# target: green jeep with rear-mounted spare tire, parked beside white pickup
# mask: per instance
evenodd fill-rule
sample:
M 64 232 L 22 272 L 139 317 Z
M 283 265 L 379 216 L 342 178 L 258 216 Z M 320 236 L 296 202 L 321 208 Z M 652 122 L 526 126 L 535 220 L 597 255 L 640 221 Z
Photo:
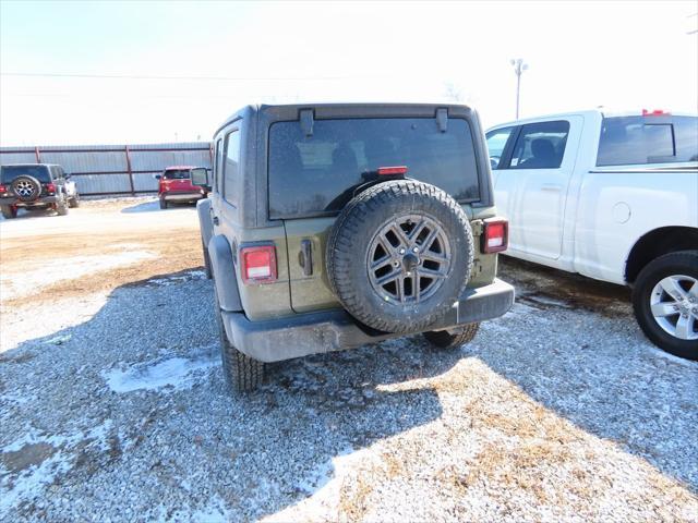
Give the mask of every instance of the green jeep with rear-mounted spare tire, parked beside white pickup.
M 197 204 L 226 379 L 423 332 L 470 341 L 505 314 L 488 151 L 460 105 L 248 106 L 214 137 Z

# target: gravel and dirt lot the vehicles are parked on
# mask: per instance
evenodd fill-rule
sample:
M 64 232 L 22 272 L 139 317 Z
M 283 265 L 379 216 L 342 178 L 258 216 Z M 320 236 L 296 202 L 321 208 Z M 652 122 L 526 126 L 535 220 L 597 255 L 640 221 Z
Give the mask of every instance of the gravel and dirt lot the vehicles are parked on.
M 698 364 L 624 289 L 505 260 L 459 351 L 409 337 L 230 398 L 195 211 L 0 222 L 2 521 L 698 521 Z

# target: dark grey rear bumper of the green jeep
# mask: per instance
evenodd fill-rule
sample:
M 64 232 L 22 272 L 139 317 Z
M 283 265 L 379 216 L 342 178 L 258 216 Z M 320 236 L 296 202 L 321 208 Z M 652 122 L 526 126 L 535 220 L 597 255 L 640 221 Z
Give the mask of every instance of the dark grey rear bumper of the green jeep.
M 513 304 L 514 288 L 495 279 L 490 285 L 467 289 L 446 317 L 425 330 L 443 330 L 497 318 Z M 222 321 L 230 342 L 240 352 L 262 362 L 341 351 L 409 335 L 373 330 L 357 324 L 342 309 L 298 314 L 264 321 L 250 321 L 243 313 L 224 311 Z

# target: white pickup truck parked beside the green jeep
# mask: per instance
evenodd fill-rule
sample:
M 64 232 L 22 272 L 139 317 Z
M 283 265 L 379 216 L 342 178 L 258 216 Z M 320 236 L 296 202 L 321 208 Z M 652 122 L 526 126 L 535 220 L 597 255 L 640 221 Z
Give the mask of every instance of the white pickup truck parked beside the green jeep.
M 580 111 L 486 139 L 506 254 L 630 285 L 647 337 L 698 360 L 698 117 Z

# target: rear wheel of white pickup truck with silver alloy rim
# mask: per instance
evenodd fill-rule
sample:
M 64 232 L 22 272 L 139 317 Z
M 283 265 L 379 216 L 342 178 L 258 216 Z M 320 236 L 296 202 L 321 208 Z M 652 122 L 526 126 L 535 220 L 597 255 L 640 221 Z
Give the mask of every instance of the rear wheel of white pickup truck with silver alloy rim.
M 676 356 L 698 361 L 698 251 L 650 262 L 635 282 L 633 307 L 650 341 Z

